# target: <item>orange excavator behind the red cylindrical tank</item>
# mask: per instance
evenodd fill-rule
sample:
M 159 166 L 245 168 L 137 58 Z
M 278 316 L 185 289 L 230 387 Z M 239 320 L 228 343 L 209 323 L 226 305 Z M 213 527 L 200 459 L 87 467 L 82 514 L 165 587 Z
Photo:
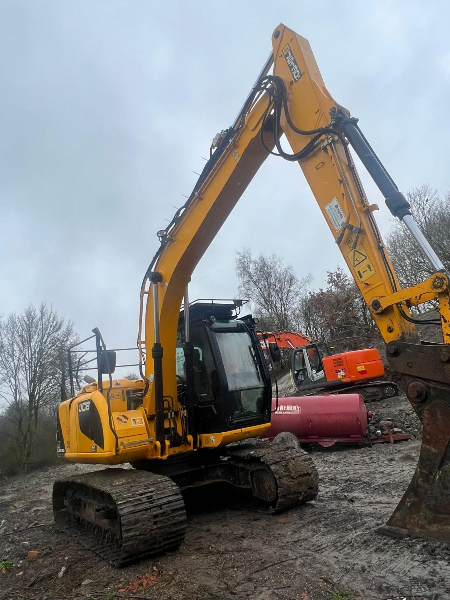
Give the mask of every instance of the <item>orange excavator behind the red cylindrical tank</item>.
M 385 374 L 376 348 L 334 354 L 325 341 L 296 331 L 269 331 L 258 334 L 259 343 L 272 360 L 280 359 L 280 348 L 292 350 L 290 377 L 302 395 L 327 392 L 361 394 L 364 400 L 380 400 L 398 394 L 398 386 L 380 381 Z

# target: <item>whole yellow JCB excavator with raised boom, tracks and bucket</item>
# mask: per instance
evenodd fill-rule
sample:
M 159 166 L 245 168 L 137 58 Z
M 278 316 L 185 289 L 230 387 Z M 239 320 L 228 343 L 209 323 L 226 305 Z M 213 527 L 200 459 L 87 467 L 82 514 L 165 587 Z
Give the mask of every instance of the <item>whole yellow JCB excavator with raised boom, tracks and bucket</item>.
M 242 442 L 271 419 L 256 320 L 236 316 L 236 305 L 191 305 L 187 295 L 197 262 L 269 154 L 301 166 L 423 424 L 415 475 L 382 532 L 450 542 L 449 275 L 357 119 L 329 94 L 308 41 L 280 25 L 272 47 L 235 122 L 214 138 L 189 199 L 157 234 L 141 290 L 142 379 L 113 379 L 115 354 L 94 330 L 98 382 L 59 406 L 58 451 L 67 460 L 136 467 L 54 486 L 56 523 L 116 565 L 178 544 L 187 487 L 225 481 L 275 510 L 317 494 L 311 460 L 289 436 L 272 445 Z M 292 154 L 281 146 L 283 133 Z M 433 265 L 434 275 L 416 286 L 398 284 L 350 145 Z M 408 310 L 431 300 L 443 344 L 419 340 Z

